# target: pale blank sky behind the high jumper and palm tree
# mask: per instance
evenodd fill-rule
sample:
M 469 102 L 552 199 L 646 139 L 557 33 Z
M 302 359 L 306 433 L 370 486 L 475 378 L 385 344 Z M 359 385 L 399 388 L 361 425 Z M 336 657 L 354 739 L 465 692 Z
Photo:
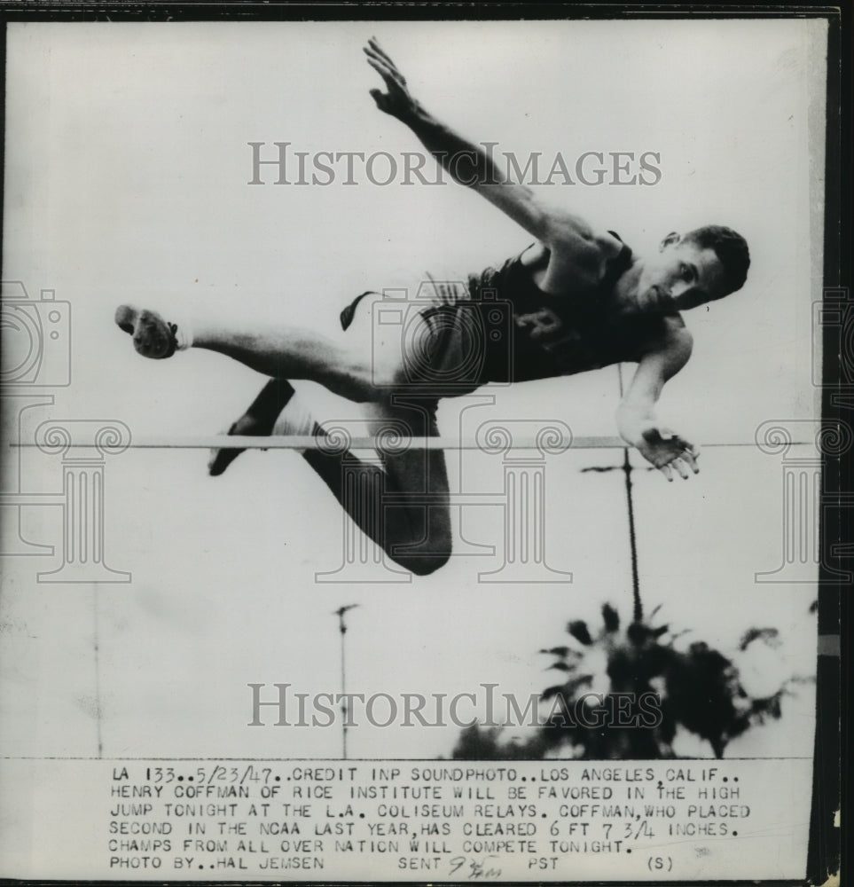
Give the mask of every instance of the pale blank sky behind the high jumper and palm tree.
M 530 242 L 451 184 L 247 184 L 250 141 L 418 148 L 368 95 L 379 85 L 361 51 L 371 33 L 425 106 L 499 151 L 560 151 L 570 165 L 584 151 L 660 153 L 654 186 L 539 189 L 635 251 L 707 222 L 748 239 L 747 286 L 686 316 L 693 358 L 660 409 L 674 428 L 702 448 L 752 443 L 764 420 L 814 418 L 819 22 L 11 25 L 4 279 L 31 298 L 54 289 L 70 306 L 71 384 L 27 412 L 25 435 L 51 417 L 117 419 L 137 439 L 179 441 L 228 427 L 261 388 L 257 374 L 207 352 L 142 361 L 113 325 L 121 302 L 324 330 L 366 288 L 480 271 Z M 355 413 L 300 387 L 325 418 Z M 494 403 L 478 419 L 615 435 L 614 367 L 484 393 Z M 443 402 L 445 433 L 463 405 Z M 7 436 L 16 420 L 7 409 Z M 500 459 L 462 458 L 466 490 L 501 489 Z M 574 574 L 562 585 L 478 583 L 498 555 L 461 555 L 411 584 L 317 584 L 315 573 L 341 563 L 342 514 L 302 460 L 247 453 L 210 479 L 206 459 L 146 450 L 108 461 L 107 561 L 132 572 L 128 585 L 39 585 L 36 570 L 56 558 L 5 559 L 3 754 L 88 757 L 100 735 L 106 757 L 336 757 L 334 728 L 247 728 L 247 683 L 337 691 L 332 611 L 342 604 L 360 605 L 349 614 L 349 689 L 392 695 L 489 682 L 525 697 L 554 682 L 537 650 L 565 642 L 569 618 L 598 626 L 606 601 L 631 613 L 622 475 L 581 471 L 616 464 L 621 451 L 548 462 L 547 558 Z M 662 621 L 692 629 L 686 641 L 725 653 L 751 625 L 779 628 L 784 646 L 745 663 L 757 691 L 769 675 L 811 674 L 814 587 L 754 582 L 780 565 L 780 458 L 708 447 L 701 466 L 689 483 L 634 475 L 647 610 L 662 604 Z M 59 459 L 22 457 L 22 489 L 56 490 L 59 477 Z M 58 542 L 59 509 L 27 508 L 21 521 L 27 538 Z M 500 545 L 497 508 L 462 521 L 466 538 Z M 785 700 L 784 721 L 729 753 L 811 756 L 811 707 L 808 688 Z M 349 751 L 447 757 L 457 732 L 365 726 Z M 683 742 L 682 753 L 709 755 Z

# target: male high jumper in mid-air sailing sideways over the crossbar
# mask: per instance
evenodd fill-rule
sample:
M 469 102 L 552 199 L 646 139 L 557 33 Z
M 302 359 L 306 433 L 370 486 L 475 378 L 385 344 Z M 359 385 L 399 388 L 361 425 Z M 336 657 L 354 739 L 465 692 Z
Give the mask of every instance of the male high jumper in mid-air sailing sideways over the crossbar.
M 137 351 L 162 358 L 191 347 L 209 349 L 270 376 L 229 429 L 241 436 L 323 433 L 288 380 L 319 382 L 364 404 L 375 428 L 391 424 L 419 437 L 438 435 L 441 397 L 490 381 L 529 381 L 636 362 L 617 408 L 620 435 L 668 480 L 674 473 L 683 478 L 696 473 L 698 452 L 662 428 L 654 406 L 664 383 L 691 355 L 692 337 L 680 312 L 743 286 L 750 263 L 745 240 L 709 225 L 668 234 L 656 255 L 635 255 L 614 232 L 596 231 L 572 213 L 546 208 L 527 185 L 509 181 L 481 148 L 412 98 L 375 40 L 364 52 L 385 82 L 386 91 L 371 90 L 380 110 L 405 123 L 451 177 L 482 194 L 536 242 L 500 268 L 465 282 L 428 280 L 403 337 L 398 326 L 384 332 L 373 322 L 379 293 L 358 296 L 341 314 L 341 332 L 329 335 L 278 321 L 240 328 L 200 317 L 176 325 L 153 311 L 122 305 L 115 320 L 132 334 Z M 510 306 L 505 326 L 501 305 Z M 480 331 L 479 339 L 473 330 Z M 456 379 L 455 367 L 466 368 Z M 214 451 L 211 475 L 222 474 L 239 452 Z M 443 451 L 415 447 L 387 452 L 382 467 L 365 464 L 376 483 L 360 485 L 359 496 L 372 501 L 355 503 L 344 495 L 341 459 L 352 462 L 356 456 L 309 449 L 302 458 L 394 561 L 425 575 L 448 560 L 451 514 Z

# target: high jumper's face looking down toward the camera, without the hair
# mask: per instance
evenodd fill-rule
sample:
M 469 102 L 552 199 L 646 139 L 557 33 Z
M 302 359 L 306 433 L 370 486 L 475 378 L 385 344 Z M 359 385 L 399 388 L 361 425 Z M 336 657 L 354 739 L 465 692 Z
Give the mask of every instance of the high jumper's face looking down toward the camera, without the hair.
M 642 311 L 685 311 L 725 295 L 724 268 L 713 249 L 678 234 L 662 240 L 658 255 L 644 263 L 635 295 Z

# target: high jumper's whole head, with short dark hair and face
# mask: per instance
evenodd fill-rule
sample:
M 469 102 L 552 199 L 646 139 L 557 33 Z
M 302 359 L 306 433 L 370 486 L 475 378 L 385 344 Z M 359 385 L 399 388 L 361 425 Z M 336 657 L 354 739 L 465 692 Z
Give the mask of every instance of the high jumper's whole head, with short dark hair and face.
M 641 271 L 639 307 L 688 310 L 722 299 L 744 286 L 749 265 L 747 242 L 731 228 L 713 224 L 670 233 Z

